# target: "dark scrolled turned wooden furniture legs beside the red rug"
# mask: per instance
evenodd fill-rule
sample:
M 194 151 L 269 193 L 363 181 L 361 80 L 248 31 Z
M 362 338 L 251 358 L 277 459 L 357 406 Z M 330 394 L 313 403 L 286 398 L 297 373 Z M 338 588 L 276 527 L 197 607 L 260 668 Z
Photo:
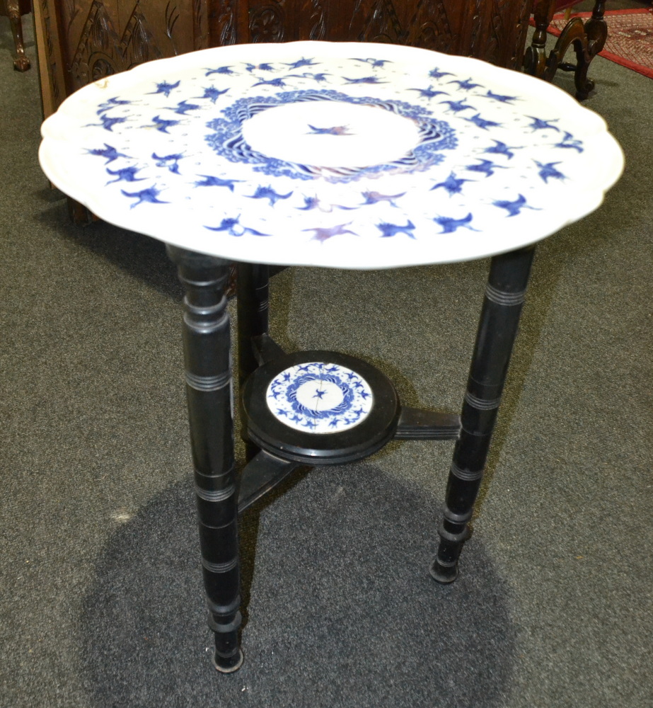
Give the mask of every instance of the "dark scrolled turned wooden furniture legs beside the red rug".
M 546 30 L 554 13 L 574 4 L 577 3 L 565 0 L 536 0 L 533 7 L 536 30 L 531 46 L 526 50 L 524 69 L 528 74 L 545 81 L 552 81 L 558 69 L 574 72 L 576 96 L 582 100 L 594 89 L 594 81 L 587 78 L 587 71 L 591 60 L 601 52 L 606 43 L 608 25 L 603 19 L 606 3 L 604 0 L 596 0 L 591 18 L 586 22 L 579 17 L 572 18 L 562 30 L 553 50 L 547 55 Z M 564 61 L 565 54 L 572 45 L 576 54 L 575 64 Z

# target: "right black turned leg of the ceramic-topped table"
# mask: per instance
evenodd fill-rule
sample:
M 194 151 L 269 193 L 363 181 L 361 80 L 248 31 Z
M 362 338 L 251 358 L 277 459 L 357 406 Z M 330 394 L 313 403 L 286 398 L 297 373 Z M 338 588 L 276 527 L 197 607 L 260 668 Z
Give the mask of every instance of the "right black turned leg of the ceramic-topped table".
M 468 524 L 485 469 L 492 430 L 524 304 L 533 246 L 492 258 L 480 315 L 461 434 L 453 450 L 439 527 L 440 545 L 431 575 L 440 583 L 458 576 L 458 556 L 469 535 Z

